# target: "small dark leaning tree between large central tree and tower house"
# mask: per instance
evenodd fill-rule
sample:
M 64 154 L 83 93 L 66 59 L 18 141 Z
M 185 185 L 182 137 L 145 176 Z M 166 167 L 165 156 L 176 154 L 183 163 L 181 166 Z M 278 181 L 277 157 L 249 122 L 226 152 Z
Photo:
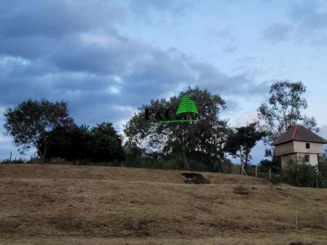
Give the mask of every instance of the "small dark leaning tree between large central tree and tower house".
M 226 143 L 226 150 L 234 157 L 239 157 L 245 169 L 252 159 L 251 150 L 256 142 L 266 135 L 265 132 L 257 129 L 257 123 L 253 122 L 246 127 L 236 128 L 236 131 L 229 135 Z

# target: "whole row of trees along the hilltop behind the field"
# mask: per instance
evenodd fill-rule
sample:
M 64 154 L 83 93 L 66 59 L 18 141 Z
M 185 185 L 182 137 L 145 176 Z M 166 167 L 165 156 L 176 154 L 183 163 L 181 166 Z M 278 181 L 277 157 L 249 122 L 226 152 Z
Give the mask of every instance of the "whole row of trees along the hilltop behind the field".
M 69 116 L 67 103 L 48 100 L 28 100 L 8 108 L 4 127 L 20 152 L 35 147 L 42 163 L 52 157 L 73 163 L 135 162 L 142 157 L 154 162 L 181 160 L 184 169 L 189 169 L 190 161 L 196 160 L 207 170 L 223 171 L 223 162 L 230 162 L 228 156 L 239 158 L 247 168 L 252 160 L 252 148 L 263 140 L 266 156 L 272 159 L 269 164 L 277 165 L 278 159 L 270 146 L 276 137 L 294 124 L 318 130 L 315 118 L 302 114 L 308 107 L 303 97 L 305 92 L 302 82 L 272 84 L 268 102 L 258 108 L 258 120 L 237 128 L 230 127 L 228 120 L 221 118 L 221 112 L 226 109 L 225 100 L 219 94 L 198 87 L 168 100 L 156 99 L 142 105 L 124 126 L 124 135 L 120 135 L 111 122 L 92 128 L 78 126 Z M 173 113 L 185 95 L 189 95 L 198 108 L 197 120 L 156 124 L 151 119 L 155 120 L 158 114 L 151 114 L 150 121 L 145 117 L 149 108 L 153 112 L 171 108 L 168 111 Z M 194 115 L 186 113 L 183 116 L 191 118 Z M 264 163 L 267 164 L 267 160 Z

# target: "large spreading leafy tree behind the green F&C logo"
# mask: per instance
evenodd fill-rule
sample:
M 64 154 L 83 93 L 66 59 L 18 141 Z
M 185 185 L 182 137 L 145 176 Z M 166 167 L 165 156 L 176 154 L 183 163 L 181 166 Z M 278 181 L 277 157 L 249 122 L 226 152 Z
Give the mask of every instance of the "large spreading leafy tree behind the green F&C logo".
M 169 111 L 173 113 L 178 108 L 182 97 L 189 95 L 199 111 L 200 120 L 196 122 L 178 122 L 171 124 L 151 124 L 145 118 L 145 109 L 153 111 Z M 169 100 L 152 100 L 149 105 L 143 105 L 126 124 L 124 132 L 127 142 L 142 146 L 145 152 L 158 152 L 160 154 L 173 154 L 181 156 L 184 161 L 184 169 L 189 168 L 191 152 L 208 149 L 205 141 L 206 135 L 213 133 L 217 125 L 218 115 L 225 108 L 225 102 L 217 94 L 211 94 L 207 90 L 189 88 L 178 96 L 172 96 Z M 158 115 L 156 115 L 158 116 Z M 186 117 L 192 117 L 187 114 Z

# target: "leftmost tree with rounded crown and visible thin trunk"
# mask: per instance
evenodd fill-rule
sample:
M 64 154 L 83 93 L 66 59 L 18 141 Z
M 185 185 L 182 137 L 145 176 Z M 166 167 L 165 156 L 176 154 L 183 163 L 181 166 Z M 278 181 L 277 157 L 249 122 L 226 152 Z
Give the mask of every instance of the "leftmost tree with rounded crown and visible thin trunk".
M 50 132 L 72 121 L 68 117 L 67 103 L 41 101 L 24 101 L 17 107 L 9 108 L 5 113 L 5 130 L 13 137 L 19 151 L 24 153 L 35 146 L 44 163 L 44 157 L 51 142 Z M 39 147 L 42 142 L 43 149 Z

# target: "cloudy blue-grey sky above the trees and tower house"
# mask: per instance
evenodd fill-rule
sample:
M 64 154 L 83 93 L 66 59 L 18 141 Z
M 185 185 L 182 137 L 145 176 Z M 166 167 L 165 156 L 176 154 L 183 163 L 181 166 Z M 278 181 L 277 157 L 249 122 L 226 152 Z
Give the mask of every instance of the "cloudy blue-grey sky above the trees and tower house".
M 220 94 L 240 127 L 272 83 L 302 81 L 327 138 L 325 1 L 2 0 L 0 23 L 0 160 L 20 156 L 3 114 L 24 100 L 66 101 L 77 124 L 122 133 L 137 107 L 189 86 Z

